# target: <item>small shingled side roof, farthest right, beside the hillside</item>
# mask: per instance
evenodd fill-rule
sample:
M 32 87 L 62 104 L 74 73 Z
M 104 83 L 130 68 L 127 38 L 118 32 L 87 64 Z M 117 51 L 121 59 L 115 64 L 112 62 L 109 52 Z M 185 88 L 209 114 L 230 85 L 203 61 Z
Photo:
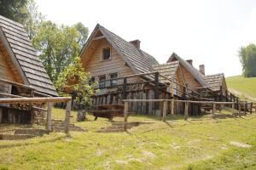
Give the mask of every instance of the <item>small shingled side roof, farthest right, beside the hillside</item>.
M 224 73 L 203 76 L 203 79 L 207 82 L 208 88 L 218 91 L 224 81 Z

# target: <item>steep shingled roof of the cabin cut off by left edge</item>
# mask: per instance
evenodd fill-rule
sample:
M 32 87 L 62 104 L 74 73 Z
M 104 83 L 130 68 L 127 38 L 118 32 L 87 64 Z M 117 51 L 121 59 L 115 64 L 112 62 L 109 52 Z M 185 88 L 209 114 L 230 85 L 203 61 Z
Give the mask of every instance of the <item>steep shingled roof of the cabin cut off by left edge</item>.
M 32 86 L 38 92 L 57 96 L 53 82 L 32 47 L 24 27 L 0 15 L 0 38 L 8 49 L 9 56 L 19 67 L 17 69 L 26 85 Z

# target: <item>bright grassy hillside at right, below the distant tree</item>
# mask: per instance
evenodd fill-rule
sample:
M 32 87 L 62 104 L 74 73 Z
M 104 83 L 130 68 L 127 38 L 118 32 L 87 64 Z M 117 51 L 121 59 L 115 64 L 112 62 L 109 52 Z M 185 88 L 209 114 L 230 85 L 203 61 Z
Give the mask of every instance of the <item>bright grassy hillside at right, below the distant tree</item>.
M 241 97 L 256 101 L 256 77 L 228 77 L 226 81 L 230 92 Z

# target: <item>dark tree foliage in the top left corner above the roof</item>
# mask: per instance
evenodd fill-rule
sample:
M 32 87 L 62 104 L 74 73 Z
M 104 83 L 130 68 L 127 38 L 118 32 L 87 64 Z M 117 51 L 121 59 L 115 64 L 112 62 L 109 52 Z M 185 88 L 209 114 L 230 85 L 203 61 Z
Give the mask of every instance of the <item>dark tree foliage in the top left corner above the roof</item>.
M 1 0 L 0 1 L 0 15 L 15 20 L 20 24 L 25 24 L 29 16 L 27 10 L 28 0 Z

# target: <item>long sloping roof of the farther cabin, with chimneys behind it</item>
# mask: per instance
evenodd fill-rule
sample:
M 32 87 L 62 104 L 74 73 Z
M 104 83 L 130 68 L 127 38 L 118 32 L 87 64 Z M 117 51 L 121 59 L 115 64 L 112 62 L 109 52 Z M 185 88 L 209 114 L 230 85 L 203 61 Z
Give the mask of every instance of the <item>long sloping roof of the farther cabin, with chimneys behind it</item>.
M 175 53 L 172 53 L 171 57 L 167 60 L 167 63 L 172 62 L 173 59 L 177 59 L 180 64 L 183 65 L 183 67 L 185 67 L 192 74 L 192 76 L 194 76 L 195 79 L 201 83 L 202 86 L 207 87 L 207 82 L 205 82 L 205 80 L 203 79 L 203 74 L 195 69 L 194 66 L 190 65 L 187 61 L 185 61 Z

